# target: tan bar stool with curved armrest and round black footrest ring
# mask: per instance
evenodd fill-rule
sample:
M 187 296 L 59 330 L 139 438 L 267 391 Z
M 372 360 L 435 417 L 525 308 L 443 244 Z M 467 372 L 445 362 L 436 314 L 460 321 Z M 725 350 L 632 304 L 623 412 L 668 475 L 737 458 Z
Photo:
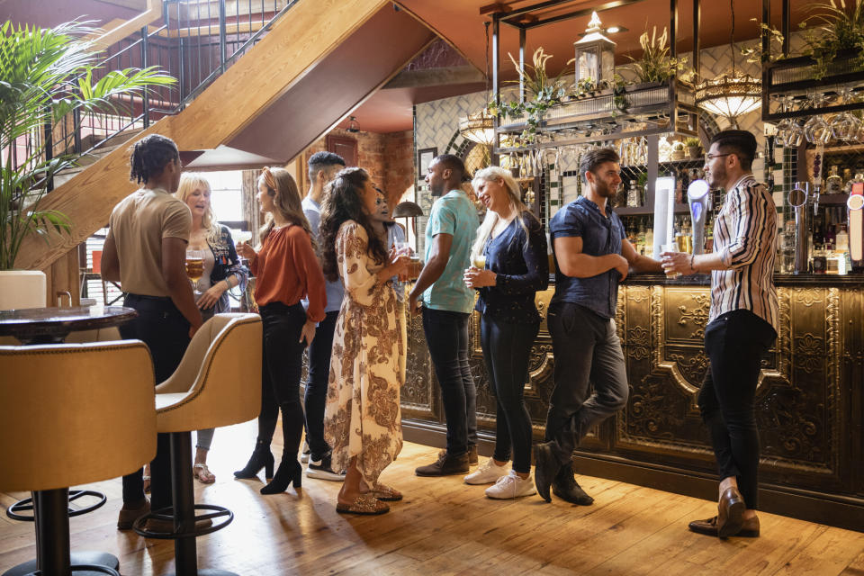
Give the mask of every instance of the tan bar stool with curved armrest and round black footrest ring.
M 255 419 L 261 410 L 261 386 L 250 385 L 261 374 L 261 317 L 257 314 L 216 314 L 204 322 L 175 373 L 156 388 L 157 431 L 171 434 L 171 477 L 174 507 L 159 509 L 135 521 L 141 536 L 173 539 L 175 574 L 237 576 L 221 570 L 198 570 L 195 537 L 230 524 L 226 508 L 195 505 L 192 478 L 192 431 L 219 428 Z M 210 513 L 195 515 L 195 510 Z M 149 518 L 174 520 L 171 532 L 145 527 Z M 197 520 L 212 519 L 211 527 L 195 528 Z M 222 519 L 219 523 L 216 520 Z

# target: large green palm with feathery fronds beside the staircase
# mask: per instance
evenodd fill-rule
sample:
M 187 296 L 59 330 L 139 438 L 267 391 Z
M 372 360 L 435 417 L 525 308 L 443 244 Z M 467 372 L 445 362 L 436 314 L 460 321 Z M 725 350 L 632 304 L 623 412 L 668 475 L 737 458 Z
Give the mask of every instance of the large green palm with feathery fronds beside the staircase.
M 90 24 L 43 29 L 7 21 L 0 28 L 0 270 L 14 267 L 24 238 L 37 234 L 48 242 L 50 230 L 62 233 L 72 226 L 61 212 L 40 210 L 40 202 L 51 178 L 77 158 L 47 159 L 46 143 L 35 135 L 69 122 L 72 112 L 117 112 L 121 98 L 175 82 L 155 67 L 112 70 L 94 82 L 98 52 L 83 40 L 97 31 Z M 34 144 L 15 161 L 23 139 Z

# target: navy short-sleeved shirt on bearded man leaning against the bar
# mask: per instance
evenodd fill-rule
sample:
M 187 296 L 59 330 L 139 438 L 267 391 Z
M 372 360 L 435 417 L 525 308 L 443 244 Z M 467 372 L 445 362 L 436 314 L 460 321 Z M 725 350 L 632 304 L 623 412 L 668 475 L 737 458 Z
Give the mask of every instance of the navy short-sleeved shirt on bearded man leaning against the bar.
M 555 212 L 549 222 L 549 237 L 553 253 L 555 238 L 582 238 L 582 254 L 606 256 L 621 254 L 621 240 L 626 238 L 624 225 L 607 202 L 606 215 L 597 204 L 580 196 Z M 590 278 L 572 278 L 561 273 L 555 256 L 555 295 L 552 302 L 572 302 L 596 312 L 603 318 L 613 318 L 618 299 L 620 273 L 615 268 Z

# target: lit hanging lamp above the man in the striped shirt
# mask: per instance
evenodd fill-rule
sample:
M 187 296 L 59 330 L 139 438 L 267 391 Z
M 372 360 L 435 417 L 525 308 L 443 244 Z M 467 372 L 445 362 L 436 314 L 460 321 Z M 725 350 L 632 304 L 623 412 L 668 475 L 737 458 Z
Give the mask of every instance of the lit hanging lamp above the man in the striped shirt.
M 753 112 L 762 104 L 761 80 L 735 70 L 735 4 L 729 2 L 732 12 L 732 31 L 729 35 L 729 49 L 732 52 L 732 74 L 721 74 L 713 80 L 706 80 L 696 86 L 698 107 L 725 116 L 733 128 L 738 128 L 738 117 Z

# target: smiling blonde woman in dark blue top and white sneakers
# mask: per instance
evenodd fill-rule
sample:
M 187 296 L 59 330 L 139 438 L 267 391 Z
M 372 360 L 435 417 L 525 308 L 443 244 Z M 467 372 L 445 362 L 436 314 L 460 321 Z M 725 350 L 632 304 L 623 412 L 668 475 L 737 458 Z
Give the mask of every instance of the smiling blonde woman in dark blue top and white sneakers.
M 549 284 L 546 236 L 543 224 L 520 200 L 519 185 L 509 170 L 484 168 L 474 176 L 473 186 L 487 211 L 465 284 L 480 293 L 474 310 L 481 313 L 481 346 L 498 408 L 495 453 L 477 472 L 465 476 L 465 482 L 495 482 L 486 489 L 487 496 L 517 498 L 536 492 L 531 478 L 531 419 L 523 391 L 531 345 L 540 329 L 534 298 Z M 508 473 L 511 446 L 513 469 Z

